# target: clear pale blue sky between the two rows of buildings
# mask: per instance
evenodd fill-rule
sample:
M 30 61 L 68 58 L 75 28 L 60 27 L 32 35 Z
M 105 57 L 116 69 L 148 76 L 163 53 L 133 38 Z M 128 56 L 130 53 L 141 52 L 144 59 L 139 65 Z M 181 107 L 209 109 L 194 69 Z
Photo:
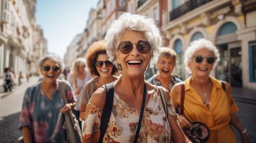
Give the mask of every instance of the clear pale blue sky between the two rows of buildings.
M 49 53 L 62 59 L 72 39 L 84 31 L 91 8 L 99 0 L 37 0 L 36 21 L 44 31 Z

